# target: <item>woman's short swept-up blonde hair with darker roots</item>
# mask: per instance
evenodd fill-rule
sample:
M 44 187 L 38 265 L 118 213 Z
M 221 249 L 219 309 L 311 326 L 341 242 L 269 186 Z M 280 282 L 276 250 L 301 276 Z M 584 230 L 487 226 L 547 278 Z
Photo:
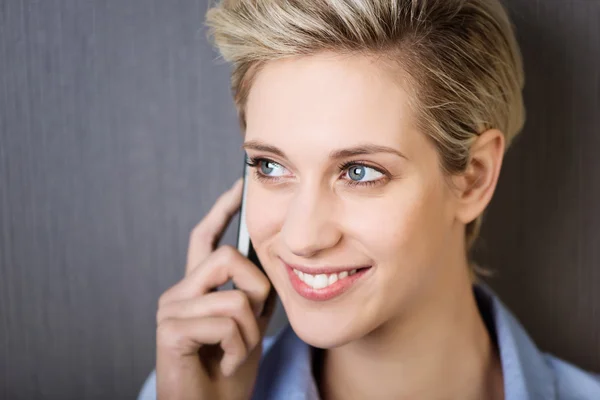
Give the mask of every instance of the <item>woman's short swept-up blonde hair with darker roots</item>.
M 242 130 L 262 65 L 323 51 L 383 56 L 401 67 L 406 89 L 415 93 L 418 128 L 437 147 L 447 174 L 465 171 L 480 133 L 501 130 L 508 148 L 523 127 L 522 58 L 499 0 L 222 0 L 206 18 L 233 64 Z M 466 226 L 467 251 L 482 218 Z

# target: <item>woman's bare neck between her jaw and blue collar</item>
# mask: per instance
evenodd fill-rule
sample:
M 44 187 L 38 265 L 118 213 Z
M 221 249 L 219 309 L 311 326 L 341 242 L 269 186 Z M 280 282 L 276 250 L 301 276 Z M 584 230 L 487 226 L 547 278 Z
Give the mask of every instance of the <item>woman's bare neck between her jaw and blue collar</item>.
M 321 398 L 503 399 L 500 358 L 463 278 L 435 285 L 412 315 L 320 353 Z

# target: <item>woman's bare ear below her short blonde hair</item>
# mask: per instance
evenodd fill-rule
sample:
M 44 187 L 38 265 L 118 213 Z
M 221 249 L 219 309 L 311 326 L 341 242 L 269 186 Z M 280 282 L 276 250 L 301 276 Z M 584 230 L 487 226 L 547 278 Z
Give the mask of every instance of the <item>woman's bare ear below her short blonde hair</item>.
M 456 217 L 465 225 L 483 213 L 492 199 L 502 167 L 504 146 L 501 131 L 483 132 L 471 145 L 465 172 L 452 178 L 458 201 Z

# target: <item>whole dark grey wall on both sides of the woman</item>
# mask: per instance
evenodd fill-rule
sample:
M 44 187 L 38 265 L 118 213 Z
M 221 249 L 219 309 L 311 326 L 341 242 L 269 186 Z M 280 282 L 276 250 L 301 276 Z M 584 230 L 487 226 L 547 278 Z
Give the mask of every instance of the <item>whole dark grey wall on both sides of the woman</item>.
M 600 371 L 600 0 L 507 4 L 529 119 L 478 258 L 540 347 Z M 206 9 L 0 0 L 0 398 L 132 398 L 152 369 L 158 296 L 241 172 Z

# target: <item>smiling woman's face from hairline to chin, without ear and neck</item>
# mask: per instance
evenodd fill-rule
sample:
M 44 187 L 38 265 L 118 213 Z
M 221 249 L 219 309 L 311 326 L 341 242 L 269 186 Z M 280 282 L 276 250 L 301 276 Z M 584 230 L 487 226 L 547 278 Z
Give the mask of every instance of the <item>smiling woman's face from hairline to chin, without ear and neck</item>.
M 292 327 L 313 346 L 348 343 L 414 311 L 458 254 L 453 195 L 407 96 L 360 56 L 270 62 L 253 83 L 248 231 Z M 314 289 L 286 264 L 370 268 Z M 325 275 L 317 286 L 335 280 Z

